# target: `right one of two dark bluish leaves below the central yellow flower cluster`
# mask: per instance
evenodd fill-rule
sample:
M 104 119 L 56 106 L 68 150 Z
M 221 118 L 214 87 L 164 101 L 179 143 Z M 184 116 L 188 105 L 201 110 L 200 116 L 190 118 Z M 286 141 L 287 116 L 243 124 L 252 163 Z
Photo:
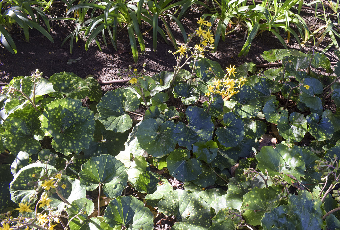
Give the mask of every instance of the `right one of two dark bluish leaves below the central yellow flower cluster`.
M 224 127 L 216 130 L 217 140 L 225 147 L 234 147 L 240 143 L 244 137 L 244 123 L 242 119 L 233 112 L 223 115 Z

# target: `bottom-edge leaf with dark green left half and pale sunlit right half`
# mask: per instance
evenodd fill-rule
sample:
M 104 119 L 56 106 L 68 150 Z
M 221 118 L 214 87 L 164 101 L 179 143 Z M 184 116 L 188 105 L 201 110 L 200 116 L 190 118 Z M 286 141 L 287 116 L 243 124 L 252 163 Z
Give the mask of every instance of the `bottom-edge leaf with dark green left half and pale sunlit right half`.
M 133 196 L 118 196 L 111 200 L 103 217 L 111 227 L 122 225 L 131 230 L 153 230 L 153 214 Z

